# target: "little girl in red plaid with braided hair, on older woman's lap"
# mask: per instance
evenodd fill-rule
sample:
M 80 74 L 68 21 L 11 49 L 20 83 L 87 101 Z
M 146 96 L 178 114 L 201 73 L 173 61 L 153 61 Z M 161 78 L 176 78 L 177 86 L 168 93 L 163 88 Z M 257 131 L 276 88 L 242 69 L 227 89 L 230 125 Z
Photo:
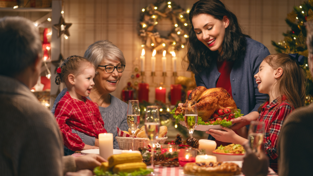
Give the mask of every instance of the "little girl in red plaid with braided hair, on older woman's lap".
M 54 116 L 64 146 L 71 151 L 99 148 L 85 144 L 72 129 L 96 138 L 106 133 L 99 106 L 86 98 L 95 85 L 94 77 L 95 65 L 80 56 L 70 56 L 57 69 L 55 83 L 64 82 L 68 91 L 56 105 Z

